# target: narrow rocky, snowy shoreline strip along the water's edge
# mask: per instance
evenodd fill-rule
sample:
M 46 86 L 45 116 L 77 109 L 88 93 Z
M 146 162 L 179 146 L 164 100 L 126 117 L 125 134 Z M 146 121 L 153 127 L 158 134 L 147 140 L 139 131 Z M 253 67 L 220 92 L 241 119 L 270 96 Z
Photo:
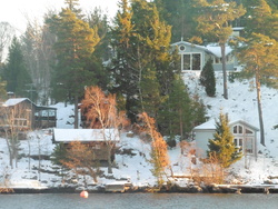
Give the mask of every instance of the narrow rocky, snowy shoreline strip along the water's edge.
M 7 188 L 0 188 L 7 189 Z M 0 192 L 0 195 L 19 195 L 19 193 L 278 193 L 276 185 L 211 185 L 211 186 L 191 186 L 179 187 L 178 185 L 170 188 L 165 186 L 157 190 L 155 187 L 129 188 L 125 191 L 107 191 L 105 187 L 98 188 L 77 188 L 77 187 L 54 187 L 54 188 L 12 188 L 12 190 Z

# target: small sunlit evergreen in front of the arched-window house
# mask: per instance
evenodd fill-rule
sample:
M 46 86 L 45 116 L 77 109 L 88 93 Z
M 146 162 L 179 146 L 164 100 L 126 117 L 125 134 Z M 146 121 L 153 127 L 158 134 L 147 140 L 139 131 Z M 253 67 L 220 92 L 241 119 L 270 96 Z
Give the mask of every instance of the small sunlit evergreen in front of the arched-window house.
M 219 121 L 216 121 L 216 132 L 214 139 L 209 139 L 208 148 L 208 157 L 216 157 L 222 168 L 228 168 L 242 157 L 241 151 L 234 143 L 227 116 L 219 115 Z

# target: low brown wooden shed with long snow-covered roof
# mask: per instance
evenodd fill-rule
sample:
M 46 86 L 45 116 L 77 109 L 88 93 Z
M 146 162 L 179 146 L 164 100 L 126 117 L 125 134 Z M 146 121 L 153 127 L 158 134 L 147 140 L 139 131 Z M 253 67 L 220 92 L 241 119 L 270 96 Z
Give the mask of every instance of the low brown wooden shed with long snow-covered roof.
M 68 146 L 73 141 L 89 145 L 96 157 L 93 160 L 99 161 L 108 161 L 108 149 L 111 148 L 110 158 L 113 161 L 120 133 L 118 129 L 53 129 L 53 143 Z

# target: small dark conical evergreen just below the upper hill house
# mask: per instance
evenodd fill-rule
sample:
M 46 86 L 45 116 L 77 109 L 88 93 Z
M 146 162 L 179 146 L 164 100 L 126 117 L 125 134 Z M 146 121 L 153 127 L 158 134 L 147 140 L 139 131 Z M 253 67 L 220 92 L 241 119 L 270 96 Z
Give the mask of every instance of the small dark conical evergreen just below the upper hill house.
M 206 88 L 207 96 L 216 96 L 216 77 L 211 59 L 203 66 L 200 74 L 200 83 Z

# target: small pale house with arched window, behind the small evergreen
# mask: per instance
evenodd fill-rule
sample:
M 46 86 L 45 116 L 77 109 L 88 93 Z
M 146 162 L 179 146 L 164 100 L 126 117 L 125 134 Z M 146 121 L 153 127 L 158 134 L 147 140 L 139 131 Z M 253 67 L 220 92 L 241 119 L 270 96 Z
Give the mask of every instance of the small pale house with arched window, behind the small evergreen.
M 234 142 L 239 148 L 239 150 L 241 150 L 246 156 L 248 155 L 257 157 L 257 132 L 259 129 L 244 120 L 229 122 L 229 127 L 231 133 L 234 135 Z M 209 120 L 193 128 L 196 151 L 198 156 L 206 157 L 208 141 L 209 139 L 214 139 L 215 131 L 215 120 Z

